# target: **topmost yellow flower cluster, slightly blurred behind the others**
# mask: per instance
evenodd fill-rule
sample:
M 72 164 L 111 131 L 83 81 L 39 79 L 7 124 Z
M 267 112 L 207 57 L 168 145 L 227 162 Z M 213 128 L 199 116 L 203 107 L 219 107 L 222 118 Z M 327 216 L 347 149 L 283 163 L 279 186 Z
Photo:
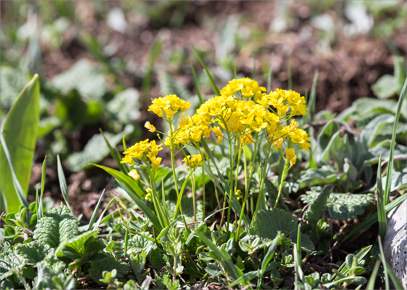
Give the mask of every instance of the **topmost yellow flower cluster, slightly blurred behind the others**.
M 229 83 L 221 89 L 221 95 L 227 97 L 241 93 L 245 99 L 253 98 L 255 101 L 265 95 L 266 88 L 259 87 L 258 82 L 251 78 L 238 78 L 229 81 Z

